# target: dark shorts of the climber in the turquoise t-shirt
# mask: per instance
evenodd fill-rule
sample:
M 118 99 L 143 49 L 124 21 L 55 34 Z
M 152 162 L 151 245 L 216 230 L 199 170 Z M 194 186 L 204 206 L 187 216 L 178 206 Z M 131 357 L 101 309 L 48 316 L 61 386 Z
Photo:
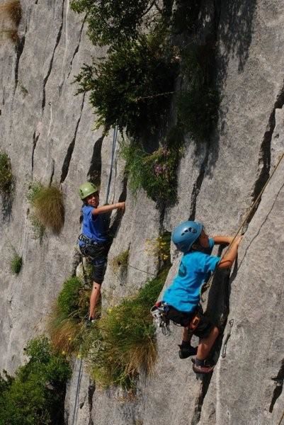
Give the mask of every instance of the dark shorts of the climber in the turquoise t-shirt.
M 193 335 L 196 335 L 201 339 L 207 338 L 215 325 L 211 322 L 206 313 L 203 313 L 201 306 L 198 306 L 197 310 L 193 313 L 186 313 L 180 312 L 169 305 L 169 312 L 166 314 L 166 317 L 176 324 L 188 327 L 188 324 L 195 315 L 198 315 L 200 322 L 198 323 L 198 327 L 193 331 Z

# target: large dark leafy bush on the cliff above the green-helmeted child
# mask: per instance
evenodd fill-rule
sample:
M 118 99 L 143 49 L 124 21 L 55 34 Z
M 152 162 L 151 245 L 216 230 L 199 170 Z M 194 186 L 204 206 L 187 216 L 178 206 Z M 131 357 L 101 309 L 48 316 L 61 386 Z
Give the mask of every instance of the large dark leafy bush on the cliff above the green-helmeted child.
M 75 81 L 77 93 L 91 91 L 90 102 L 98 114 L 97 127 L 107 131 L 118 125 L 127 135 L 151 135 L 161 127 L 174 91 L 177 66 L 164 43 L 164 33 L 141 35 L 113 50 L 105 61 L 84 66 Z M 157 96 L 158 95 L 158 96 Z

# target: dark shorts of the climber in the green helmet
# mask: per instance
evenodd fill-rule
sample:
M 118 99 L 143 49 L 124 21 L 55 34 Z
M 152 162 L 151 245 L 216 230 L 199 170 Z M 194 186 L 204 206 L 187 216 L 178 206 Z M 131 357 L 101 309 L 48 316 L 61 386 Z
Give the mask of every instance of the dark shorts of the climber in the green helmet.
M 103 277 L 106 273 L 109 245 L 106 244 L 106 246 L 99 247 L 96 245 L 85 245 L 79 246 L 79 248 L 81 254 L 83 256 L 86 256 L 92 265 L 91 278 L 94 282 L 99 283 L 101 285 L 103 283 Z

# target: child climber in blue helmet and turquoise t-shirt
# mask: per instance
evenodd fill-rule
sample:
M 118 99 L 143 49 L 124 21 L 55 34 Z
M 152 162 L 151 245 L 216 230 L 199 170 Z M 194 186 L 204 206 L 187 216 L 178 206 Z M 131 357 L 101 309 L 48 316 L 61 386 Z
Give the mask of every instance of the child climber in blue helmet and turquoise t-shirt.
M 215 236 L 209 238 L 200 222 L 186 221 L 172 234 L 176 248 L 183 252 L 178 274 L 162 297 L 166 317 L 184 327 L 180 358 L 194 356 L 195 373 L 210 373 L 213 366 L 206 359 L 219 334 L 219 329 L 203 314 L 200 289 L 216 268 L 231 268 L 237 257 L 242 237 Z M 214 244 L 231 244 L 225 256 L 210 255 Z M 191 346 L 191 336 L 200 338 L 198 347 Z

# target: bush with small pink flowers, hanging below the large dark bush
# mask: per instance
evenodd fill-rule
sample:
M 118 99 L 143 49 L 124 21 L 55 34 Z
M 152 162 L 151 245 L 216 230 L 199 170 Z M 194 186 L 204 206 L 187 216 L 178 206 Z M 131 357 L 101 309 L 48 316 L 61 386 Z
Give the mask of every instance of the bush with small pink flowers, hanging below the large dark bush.
M 176 171 L 183 154 L 183 137 L 178 140 L 181 134 L 178 129 L 174 131 L 176 135 L 171 135 L 164 147 L 150 154 L 137 145 L 122 145 L 120 154 L 126 161 L 132 193 L 144 188 L 147 195 L 159 203 L 176 202 Z

